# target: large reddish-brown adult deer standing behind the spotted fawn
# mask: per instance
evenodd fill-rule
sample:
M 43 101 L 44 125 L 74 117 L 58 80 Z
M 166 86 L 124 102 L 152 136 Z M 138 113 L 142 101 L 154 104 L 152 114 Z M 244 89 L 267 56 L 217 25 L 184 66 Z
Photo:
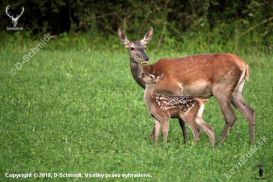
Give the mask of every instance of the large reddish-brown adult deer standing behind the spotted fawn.
M 155 75 L 165 73 L 157 83 L 157 93 L 169 95 L 193 95 L 209 98 L 212 95 L 218 101 L 225 119 L 225 127 L 216 145 L 221 143 L 237 117 L 231 103 L 246 117 L 249 123 L 250 144 L 255 140 L 255 111 L 243 98 L 243 87 L 248 81 L 250 68 L 238 56 L 232 54 L 199 54 L 182 58 L 163 58 L 151 65 L 147 64 L 149 56 L 145 53 L 145 44 L 149 43 L 153 34 L 151 28 L 140 41 L 129 41 L 119 29 L 121 42 L 129 50 L 131 73 L 136 83 L 145 88 L 145 82 L 138 74 L 155 70 Z M 179 119 L 184 141 L 188 142 L 185 122 Z M 151 139 L 154 139 L 153 129 Z

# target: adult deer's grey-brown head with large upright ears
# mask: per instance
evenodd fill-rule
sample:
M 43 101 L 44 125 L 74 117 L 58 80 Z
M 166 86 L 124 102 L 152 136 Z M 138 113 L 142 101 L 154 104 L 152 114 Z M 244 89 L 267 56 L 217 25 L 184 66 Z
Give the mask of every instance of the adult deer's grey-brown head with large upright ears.
M 126 46 L 126 48 L 129 50 L 130 54 L 130 61 L 140 63 L 142 61 L 142 64 L 147 64 L 150 60 L 149 56 L 145 53 L 145 50 L 147 47 L 145 44 L 149 43 L 152 39 L 153 34 L 153 28 L 150 28 L 149 31 L 145 34 L 145 36 L 140 41 L 132 41 L 130 42 L 127 39 L 127 36 L 121 29 L 119 29 L 119 37 L 121 42 Z

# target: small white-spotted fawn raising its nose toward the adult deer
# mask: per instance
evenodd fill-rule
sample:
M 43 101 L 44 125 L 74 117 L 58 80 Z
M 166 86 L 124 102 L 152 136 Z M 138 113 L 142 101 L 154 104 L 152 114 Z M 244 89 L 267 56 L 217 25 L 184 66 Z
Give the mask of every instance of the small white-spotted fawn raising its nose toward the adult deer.
M 144 99 L 151 116 L 154 118 L 154 135 L 151 140 L 158 139 L 160 127 L 162 124 L 162 136 L 164 142 L 167 142 L 169 120 L 178 118 L 185 121 L 194 133 L 193 143 L 199 141 L 201 130 L 204 130 L 209 137 L 210 146 L 214 145 L 213 128 L 205 123 L 202 118 L 204 102 L 208 99 L 201 99 L 191 95 L 166 95 L 156 93 L 156 83 L 159 82 L 164 73 L 156 77 L 153 73 L 141 73 L 139 78 L 146 83 Z

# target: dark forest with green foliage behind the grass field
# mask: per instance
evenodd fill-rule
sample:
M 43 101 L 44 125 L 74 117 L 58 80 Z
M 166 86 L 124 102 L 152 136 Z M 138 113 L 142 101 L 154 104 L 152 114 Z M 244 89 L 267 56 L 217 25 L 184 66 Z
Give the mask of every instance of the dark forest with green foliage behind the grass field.
M 150 27 L 163 40 L 185 41 L 201 36 L 225 44 L 244 38 L 249 44 L 273 46 L 272 0 L 1 0 L 0 32 L 12 27 L 10 15 L 20 14 L 20 34 L 92 32 L 117 36 L 118 28 L 139 40 Z

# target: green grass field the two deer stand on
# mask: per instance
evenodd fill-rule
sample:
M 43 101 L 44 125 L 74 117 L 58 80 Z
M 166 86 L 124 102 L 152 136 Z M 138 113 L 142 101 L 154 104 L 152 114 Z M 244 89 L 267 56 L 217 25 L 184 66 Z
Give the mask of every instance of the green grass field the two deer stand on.
M 244 98 L 256 111 L 257 151 L 249 147 L 248 122 L 236 109 L 237 122 L 232 130 L 222 144 L 210 150 L 205 132 L 196 146 L 185 146 L 177 119 L 170 121 L 166 144 L 162 137 L 158 142 L 149 140 L 153 119 L 146 109 L 144 90 L 132 78 L 129 54 L 118 36 L 112 48 L 88 42 L 67 46 L 50 40 L 17 70 L 14 64 L 22 63 L 22 57 L 39 39 L 14 39 L 14 43 L 0 45 L 1 182 L 246 182 L 259 178 L 255 166 L 259 163 L 266 164 L 263 178 L 272 181 L 272 52 L 264 54 L 254 48 L 237 52 L 251 67 Z M 209 52 L 148 49 L 146 53 L 155 62 L 163 57 Z M 16 71 L 14 76 L 10 69 Z M 224 119 L 214 97 L 205 104 L 204 120 L 214 128 L 217 139 Z M 188 126 L 187 131 L 191 141 L 193 133 Z M 31 173 L 32 178 L 12 179 L 7 173 Z M 81 173 L 83 178 L 42 177 L 43 173 Z M 104 177 L 86 178 L 85 173 Z M 151 177 L 122 176 L 139 173 Z M 106 174 L 110 175 L 107 179 Z

